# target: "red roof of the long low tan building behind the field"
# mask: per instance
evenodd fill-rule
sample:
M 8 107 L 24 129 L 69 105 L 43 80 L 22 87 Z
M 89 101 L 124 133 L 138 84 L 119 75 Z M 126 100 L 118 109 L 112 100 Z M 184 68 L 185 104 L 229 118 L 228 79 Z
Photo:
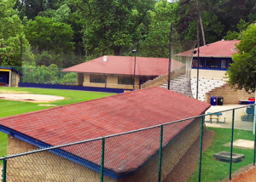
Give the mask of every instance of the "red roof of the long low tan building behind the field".
M 105 73 L 119 75 L 134 74 L 134 60 L 131 56 L 107 56 L 108 60 L 103 61 L 103 57 L 88 62 L 74 65 L 62 71 L 86 72 L 86 73 Z M 159 76 L 168 72 L 169 59 L 166 58 L 136 58 L 137 76 Z M 179 69 L 183 63 L 172 60 L 172 70 Z

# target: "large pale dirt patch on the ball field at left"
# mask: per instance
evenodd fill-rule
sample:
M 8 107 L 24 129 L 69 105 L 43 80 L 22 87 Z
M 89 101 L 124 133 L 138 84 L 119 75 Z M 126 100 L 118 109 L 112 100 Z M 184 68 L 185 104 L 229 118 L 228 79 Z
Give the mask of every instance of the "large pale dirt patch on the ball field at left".
M 53 102 L 56 100 L 64 100 L 64 97 L 48 95 L 48 94 L 0 94 L 2 100 L 18 100 L 26 102 Z

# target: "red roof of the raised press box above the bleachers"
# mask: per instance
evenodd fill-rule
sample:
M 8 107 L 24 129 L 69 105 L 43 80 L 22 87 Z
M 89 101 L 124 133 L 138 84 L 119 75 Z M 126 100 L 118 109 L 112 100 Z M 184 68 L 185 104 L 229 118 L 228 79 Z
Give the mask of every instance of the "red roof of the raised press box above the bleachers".
M 236 43 L 240 43 L 239 40 L 233 41 L 218 41 L 216 43 L 210 43 L 200 47 L 200 57 L 216 57 L 216 58 L 232 58 L 232 54 L 236 54 Z M 195 48 L 197 50 L 197 48 Z M 186 51 L 177 55 L 190 55 L 191 51 Z M 194 54 L 196 57 L 197 54 Z

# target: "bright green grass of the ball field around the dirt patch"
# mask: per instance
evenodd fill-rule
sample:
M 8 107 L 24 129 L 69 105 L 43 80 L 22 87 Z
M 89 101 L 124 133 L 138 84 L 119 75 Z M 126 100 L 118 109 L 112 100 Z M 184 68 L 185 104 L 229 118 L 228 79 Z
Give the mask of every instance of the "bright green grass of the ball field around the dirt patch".
M 0 88 L 1 92 L 29 92 L 31 94 L 50 94 L 65 97 L 65 100 L 50 102 L 53 105 L 68 105 L 84 100 L 95 100 L 113 94 L 100 92 L 85 92 L 64 89 L 45 89 L 45 88 Z M 52 106 L 39 106 L 38 103 L 0 100 L 0 117 L 9 117 L 29 111 L 39 111 Z M 0 156 L 6 156 L 7 135 L 0 132 Z

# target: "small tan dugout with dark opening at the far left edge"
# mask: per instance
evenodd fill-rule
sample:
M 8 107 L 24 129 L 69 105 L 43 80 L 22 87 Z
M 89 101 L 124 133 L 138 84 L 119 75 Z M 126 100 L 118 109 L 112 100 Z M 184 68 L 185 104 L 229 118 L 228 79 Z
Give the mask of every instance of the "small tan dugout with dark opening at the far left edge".
M 16 71 L 13 67 L 0 66 L 0 86 L 18 87 L 20 82 L 20 71 Z

